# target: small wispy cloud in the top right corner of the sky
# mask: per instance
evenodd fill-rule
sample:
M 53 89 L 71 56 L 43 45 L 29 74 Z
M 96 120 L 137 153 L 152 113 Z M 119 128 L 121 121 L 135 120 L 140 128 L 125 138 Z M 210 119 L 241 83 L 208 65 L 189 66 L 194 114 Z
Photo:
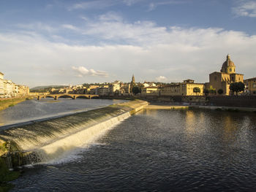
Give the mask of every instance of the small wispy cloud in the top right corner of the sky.
M 237 16 L 256 18 L 256 1 L 240 1 L 232 10 Z

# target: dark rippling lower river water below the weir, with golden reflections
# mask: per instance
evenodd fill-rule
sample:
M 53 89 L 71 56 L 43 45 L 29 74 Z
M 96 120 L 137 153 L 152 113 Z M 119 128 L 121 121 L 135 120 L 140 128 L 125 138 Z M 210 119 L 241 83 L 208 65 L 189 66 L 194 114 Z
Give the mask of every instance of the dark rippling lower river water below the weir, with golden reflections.
M 13 191 L 256 191 L 255 116 L 144 110 Z

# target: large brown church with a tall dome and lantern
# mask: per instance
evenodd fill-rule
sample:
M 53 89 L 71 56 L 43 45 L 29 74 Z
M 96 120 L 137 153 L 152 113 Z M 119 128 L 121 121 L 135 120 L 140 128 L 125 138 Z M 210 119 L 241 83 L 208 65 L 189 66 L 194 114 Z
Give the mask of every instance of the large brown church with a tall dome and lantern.
M 216 91 L 222 89 L 224 95 L 230 95 L 230 83 L 232 82 L 244 82 L 244 74 L 236 73 L 236 66 L 231 61 L 230 55 L 227 55 L 220 72 L 209 74 L 208 86 L 212 86 Z

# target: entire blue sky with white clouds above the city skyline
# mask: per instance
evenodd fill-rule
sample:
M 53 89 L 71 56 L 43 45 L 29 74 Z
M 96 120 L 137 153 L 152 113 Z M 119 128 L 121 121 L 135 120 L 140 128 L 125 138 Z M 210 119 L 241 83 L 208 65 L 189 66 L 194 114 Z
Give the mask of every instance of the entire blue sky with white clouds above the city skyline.
M 227 54 L 256 77 L 256 0 L 0 0 L 0 72 L 30 88 L 208 82 Z

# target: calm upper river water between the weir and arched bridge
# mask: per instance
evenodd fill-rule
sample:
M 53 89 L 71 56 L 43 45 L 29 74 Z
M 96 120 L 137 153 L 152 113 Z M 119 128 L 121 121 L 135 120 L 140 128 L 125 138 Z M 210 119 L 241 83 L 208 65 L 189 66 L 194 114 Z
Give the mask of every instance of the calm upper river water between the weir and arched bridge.
M 110 99 L 42 99 L 27 100 L 14 107 L 0 111 L 0 126 L 20 123 L 40 118 L 50 118 L 56 115 L 65 115 L 80 110 L 92 110 L 110 104 L 120 103 L 122 100 Z

